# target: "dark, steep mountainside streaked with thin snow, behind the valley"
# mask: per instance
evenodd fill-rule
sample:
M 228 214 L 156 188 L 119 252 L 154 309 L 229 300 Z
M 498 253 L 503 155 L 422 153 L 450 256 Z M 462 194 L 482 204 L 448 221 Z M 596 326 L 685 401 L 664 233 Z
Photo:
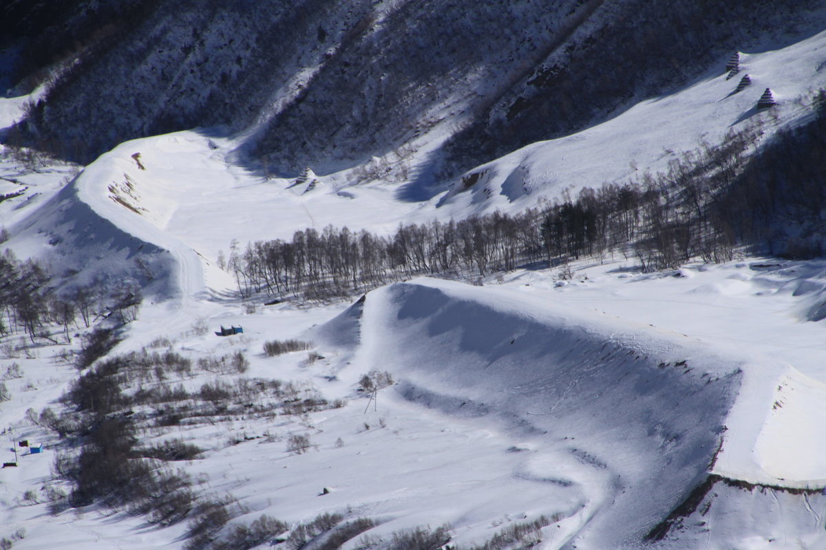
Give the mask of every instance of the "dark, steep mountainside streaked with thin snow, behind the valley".
M 88 161 L 125 139 L 254 126 L 253 157 L 297 176 L 443 125 L 425 172 L 444 180 L 699 78 L 767 33 L 814 28 L 806 2 L 757 0 L 766 16 L 755 0 L 130 0 L 93 25 L 85 4 L 117 2 L 78 1 L 41 25 L 88 40 L 23 133 Z

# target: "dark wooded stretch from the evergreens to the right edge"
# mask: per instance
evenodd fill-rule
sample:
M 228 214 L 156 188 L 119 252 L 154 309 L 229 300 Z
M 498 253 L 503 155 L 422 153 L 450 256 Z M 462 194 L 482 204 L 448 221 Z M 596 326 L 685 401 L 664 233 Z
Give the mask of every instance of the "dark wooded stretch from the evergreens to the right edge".
M 826 253 L 826 91 L 813 116 L 753 151 L 762 121 L 704 142 L 624 186 L 585 189 L 544 212 L 548 261 L 624 251 L 643 270 L 700 258 L 729 261 L 740 247 L 790 258 Z

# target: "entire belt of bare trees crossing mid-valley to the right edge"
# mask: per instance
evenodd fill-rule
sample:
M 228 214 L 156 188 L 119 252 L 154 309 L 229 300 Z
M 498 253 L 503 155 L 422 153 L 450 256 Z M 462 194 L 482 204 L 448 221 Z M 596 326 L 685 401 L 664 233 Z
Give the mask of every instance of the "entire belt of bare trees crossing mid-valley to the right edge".
M 643 270 L 695 258 L 729 261 L 748 245 L 787 256 L 822 254 L 826 92 L 814 96 L 813 107 L 809 123 L 781 132 L 751 155 L 762 135 L 759 118 L 717 145 L 700 143 L 675 157 L 665 172 L 586 188 L 542 210 L 400 225 L 387 237 L 310 228 L 292 241 L 234 249 L 228 266 L 244 296 L 264 291 L 318 299 L 415 275 L 483 277 L 615 253 L 634 256 Z M 808 228 L 805 243 L 788 237 L 791 225 Z

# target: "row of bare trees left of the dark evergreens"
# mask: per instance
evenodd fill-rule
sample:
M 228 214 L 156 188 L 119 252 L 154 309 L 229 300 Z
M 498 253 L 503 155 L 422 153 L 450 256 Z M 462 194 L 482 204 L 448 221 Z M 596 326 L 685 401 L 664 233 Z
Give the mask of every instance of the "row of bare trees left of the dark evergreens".
M 539 210 L 400 225 L 383 237 L 327 226 L 230 254 L 241 294 L 342 296 L 414 275 L 489 275 L 543 258 Z

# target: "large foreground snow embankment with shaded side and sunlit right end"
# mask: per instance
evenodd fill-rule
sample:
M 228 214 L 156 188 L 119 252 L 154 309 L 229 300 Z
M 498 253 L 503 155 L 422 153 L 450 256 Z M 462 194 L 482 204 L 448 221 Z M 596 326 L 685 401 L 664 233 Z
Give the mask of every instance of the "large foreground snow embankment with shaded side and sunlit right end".
M 637 548 L 709 472 L 777 491 L 826 486 L 823 383 L 721 354 L 714 341 L 538 298 L 415 280 L 368 294 L 312 334 L 332 343 L 358 327 L 336 342 L 348 364 L 390 369 L 403 397 L 448 416 L 496 419 L 529 449 L 515 475 L 579 487 L 582 510 L 552 548 Z M 765 391 L 775 382 L 782 397 Z M 826 499 L 811 498 L 824 510 Z M 805 524 L 794 529 L 823 542 Z

